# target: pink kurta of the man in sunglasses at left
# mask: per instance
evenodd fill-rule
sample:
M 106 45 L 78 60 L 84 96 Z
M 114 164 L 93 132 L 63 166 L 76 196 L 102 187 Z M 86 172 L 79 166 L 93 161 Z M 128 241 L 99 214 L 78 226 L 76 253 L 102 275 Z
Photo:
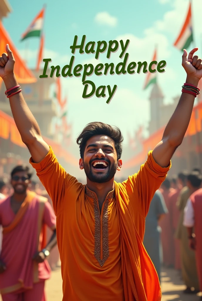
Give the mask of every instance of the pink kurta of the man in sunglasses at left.
M 0 259 L 5 263 L 6 271 L 0 274 L 1 294 L 19 290 L 19 284 L 20 289 L 31 289 L 33 283 L 37 282 L 37 276 L 38 281 L 50 277 L 51 270 L 46 260 L 39 263 L 38 267 L 32 260 L 33 255 L 38 251 L 39 206 L 40 201 L 36 196 L 29 203 L 26 213 L 17 226 L 12 231 L 3 234 Z M 43 210 L 42 224 L 54 228 L 56 217 L 51 205 L 45 202 Z M 0 224 L 7 227 L 12 223 L 14 217 L 11 198 L 0 201 Z M 34 265 L 36 265 L 35 280 L 33 277 Z

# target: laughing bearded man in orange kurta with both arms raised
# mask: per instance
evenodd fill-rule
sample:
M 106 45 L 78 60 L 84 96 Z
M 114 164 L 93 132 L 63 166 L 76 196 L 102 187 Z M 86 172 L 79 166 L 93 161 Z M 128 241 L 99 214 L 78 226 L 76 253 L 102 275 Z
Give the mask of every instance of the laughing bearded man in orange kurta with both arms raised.
M 201 60 L 184 51 L 186 83 L 162 140 L 148 153 L 137 174 L 123 183 L 114 175 L 121 169 L 123 137 L 118 128 L 90 123 L 79 135 L 82 185 L 60 166 L 41 137 L 39 126 L 23 98 L 14 75 L 14 57 L 0 57 L 0 76 L 6 86 L 15 123 L 31 153 L 30 163 L 50 195 L 57 216 L 63 300 L 159 301 L 158 275 L 142 240 L 145 217 L 155 191 L 166 178 L 170 159 L 182 143 L 198 94 Z M 194 56 L 193 56 L 194 55 Z

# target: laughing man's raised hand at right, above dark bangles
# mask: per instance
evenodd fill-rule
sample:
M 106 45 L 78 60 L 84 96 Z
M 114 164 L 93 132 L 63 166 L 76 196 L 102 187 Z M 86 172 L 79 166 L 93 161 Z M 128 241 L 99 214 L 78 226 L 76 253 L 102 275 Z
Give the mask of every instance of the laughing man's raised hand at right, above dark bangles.
M 184 52 L 182 54 L 182 67 L 185 69 L 187 73 L 187 79 L 188 80 L 194 80 L 194 82 L 199 81 L 202 77 L 202 64 L 201 59 L 198 58 L 197 55 L 193 54 L 198 50 L 198 48 L 194 48 L 189 52 L 188 58 L 187 58 L 187 51 L 184 49 Z M 191 82 L 190 82 L 191 83 Z

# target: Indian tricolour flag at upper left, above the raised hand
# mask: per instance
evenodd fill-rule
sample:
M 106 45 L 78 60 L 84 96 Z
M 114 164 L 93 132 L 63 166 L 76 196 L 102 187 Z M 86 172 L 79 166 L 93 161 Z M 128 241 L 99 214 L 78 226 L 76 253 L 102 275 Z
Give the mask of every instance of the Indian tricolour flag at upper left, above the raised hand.
M 40 37 L 44 20 L 44 8 L 34 18 L 28 29 L 23 33 L 21 41 L 30 37 Z

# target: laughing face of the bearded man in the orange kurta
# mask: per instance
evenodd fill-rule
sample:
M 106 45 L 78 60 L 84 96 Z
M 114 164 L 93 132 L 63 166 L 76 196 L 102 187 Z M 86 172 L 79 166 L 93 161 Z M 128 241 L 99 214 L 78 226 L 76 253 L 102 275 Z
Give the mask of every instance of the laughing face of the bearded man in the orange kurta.
M 114 141 L 108 136 L 96 135 L 87 141 L 79 164 L 91 182 L 105 183 L 121 169 L 122 161 L 117 160 Z

